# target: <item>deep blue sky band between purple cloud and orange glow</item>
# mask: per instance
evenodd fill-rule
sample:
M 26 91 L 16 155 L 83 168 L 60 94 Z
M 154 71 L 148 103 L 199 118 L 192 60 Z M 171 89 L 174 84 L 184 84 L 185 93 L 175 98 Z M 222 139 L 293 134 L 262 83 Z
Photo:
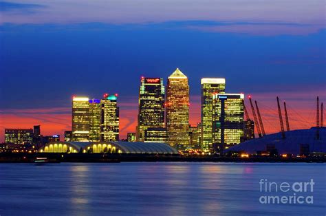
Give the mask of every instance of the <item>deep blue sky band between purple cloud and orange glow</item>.
M 325 30 L 260 36 L 180 25 L 3 24 L 1 106 L 47 106 L 45 98 L 67 105 L 72 94 L 99 97 L 106 91 L 137 96 L 140 76 L 166 79 L 176 67 L 194 95 L 204 76 L 225 77 L 230 92 L 325 85 Z

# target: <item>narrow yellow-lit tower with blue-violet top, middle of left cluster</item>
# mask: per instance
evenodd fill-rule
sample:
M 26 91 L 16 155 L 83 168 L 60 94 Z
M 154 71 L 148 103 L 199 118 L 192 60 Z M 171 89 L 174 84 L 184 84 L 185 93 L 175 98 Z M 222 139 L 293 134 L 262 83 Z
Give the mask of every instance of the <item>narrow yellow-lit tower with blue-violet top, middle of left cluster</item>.
M 100 141 L 101 111 L 100 100 L 89 100 L 89 142 Z

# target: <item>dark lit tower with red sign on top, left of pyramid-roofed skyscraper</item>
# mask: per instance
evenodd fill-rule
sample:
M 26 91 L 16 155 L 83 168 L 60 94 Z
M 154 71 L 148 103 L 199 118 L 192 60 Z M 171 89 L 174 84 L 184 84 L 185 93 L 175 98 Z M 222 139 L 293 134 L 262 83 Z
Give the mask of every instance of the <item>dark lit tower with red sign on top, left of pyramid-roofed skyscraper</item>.
M 149 127 L 164 127 L 163 78 L 141 79 L 139 89 L 138 126 L 136 140 L 144 142 L 144 133 Z

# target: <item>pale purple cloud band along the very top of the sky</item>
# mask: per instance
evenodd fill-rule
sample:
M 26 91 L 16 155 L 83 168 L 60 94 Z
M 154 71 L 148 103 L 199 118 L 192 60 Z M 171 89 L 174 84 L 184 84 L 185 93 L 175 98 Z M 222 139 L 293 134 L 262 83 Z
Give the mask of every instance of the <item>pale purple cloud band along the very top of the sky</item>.
M 7 1 L 9 2 L 9 1 Z M 21 1 L 10 1 L 21 4 Z M 169 21 L 214 21 L 224 25 L 187 25 L 210 32 L 246 34 L 310 34 L 325 28 L 324 1 L 88 1 L 27 0 L 44 5 L 33 13 L 1 14 L 0 23 L 115 23 L 146 24 Z M 21 8 L 20 10 L 28 10 Z

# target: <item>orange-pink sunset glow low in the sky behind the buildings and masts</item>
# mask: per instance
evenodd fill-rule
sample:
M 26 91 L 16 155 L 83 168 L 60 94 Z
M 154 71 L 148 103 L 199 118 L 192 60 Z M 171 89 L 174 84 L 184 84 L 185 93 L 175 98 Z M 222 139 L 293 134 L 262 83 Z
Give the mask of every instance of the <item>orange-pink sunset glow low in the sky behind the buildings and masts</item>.
M 289 115 L 291 130 L 308 129 L 316 126 L 316 96 L 312 96 L 311 93 L 284 94 L 280 96 L 282 100 L 283 98 L 287 99 L 287 114 Z M 276 105 L 276 94 L 257 94 L 254 98 L 259 102 L 265 132 L 270 134 L 281 131 Z M 307 99 L 303 100 L 302 98 Z M 200 96 L 191 96 L 190 100 L 189 123 L 192 126 L 196 126 L 200 122 Z M 250 107 L 248 106 L 248 100 L 245 103 L 247 107 Z M 119 107 L 120 138 L 127 138 L 127 133 L 135 132 L 137 125 L 138 98 L 135 97 L 132 100 L 119 102 Z M 282 112 L 284 114 L 283 107 Z M 248 109 L 248 114 L 252 118 L 251 109 Z M 71 130 L 71 118 L 70 107 L 2 109 L 0 111 L 0 142 L 4 140 L 5 128 L 33 128 L 34 125 L 41 125 L 41 133 L 44 136 L 60 134 L 61 140 L 63 140 L 64 131 Z

